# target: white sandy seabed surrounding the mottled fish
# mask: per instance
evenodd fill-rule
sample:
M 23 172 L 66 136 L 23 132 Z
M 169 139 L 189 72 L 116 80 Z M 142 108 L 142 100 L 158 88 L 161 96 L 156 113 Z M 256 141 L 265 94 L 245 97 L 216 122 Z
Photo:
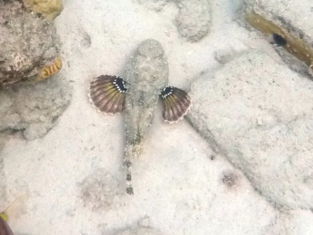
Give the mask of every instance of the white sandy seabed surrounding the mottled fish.
M 123 184 L 122 116 L 97 113 L 88 101 L 88 83 L 100 74 L 123 75 L 140 41 L 160 41 L 168 56 L 170 85 L 181 88 L 188 88 L 201 71 L 221 66 L 214 59 L 219 48 L 240 52 L 256 47 L 278 59 L 264 39 L 232 21 L 239 3 L 211 2 L 211 32 L 192 44 L 173 24 L 178 11 L 174 3 L 156 12 L 131 0 L 65 1 L 55 22 L 67 61 L 63 73 L 73 80 L 72 102 L 43 139 L 27 142 L 16 136 L 7 142 L 9 199 L 24 188 L 30 192 L 27 213 L 10 221 L 14 231 L 107 235 L 149 216 L 150 226 L 168 235 L 262 235 L 274 223 L 278 212 L 245 176 L 222 157 L 210 160 L 212 150 L 185 120 L 175 125 L 162 122 L 161 108 L 142 159 L 134 161 L 134 196 L 121 196 L 101 211 L 90 211 L 80 199 L 77 183 L 100 167 Z M 90 47 L 84 46 L 85 32 Z M 222 184 L 224 172 L 239 175 L 236 187 Z

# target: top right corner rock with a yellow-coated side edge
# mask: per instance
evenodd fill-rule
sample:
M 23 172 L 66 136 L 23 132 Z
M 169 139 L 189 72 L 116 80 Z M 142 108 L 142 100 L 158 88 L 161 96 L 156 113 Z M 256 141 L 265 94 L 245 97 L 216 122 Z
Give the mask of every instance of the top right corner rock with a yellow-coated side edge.
M 313 28 L 308 24 L 312 18 L 310 1 L 292 0 L 246 0 L 247 21 L 266 36 L 272 33 L 286 40 L 284 50 L 277 52 L 295 71 L 308 71 L 313 66 Z M 299 60 L 294 60 L 295 56 Z M 304 66 L 304 65 L 307 66 Z M 310 73 L 311 70 L 309 70 Z

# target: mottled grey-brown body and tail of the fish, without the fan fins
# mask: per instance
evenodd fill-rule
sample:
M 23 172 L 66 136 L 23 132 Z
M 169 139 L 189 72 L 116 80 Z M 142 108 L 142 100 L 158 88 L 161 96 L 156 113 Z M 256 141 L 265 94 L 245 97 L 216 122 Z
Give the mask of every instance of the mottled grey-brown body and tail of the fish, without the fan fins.
M 148 39 L 140 43 L 125 71 L 127 84 L 125 103 L 126 144 L 124 166 L 126 192 L 133 194 L 130 167 L 141 154 L 142 143 L 155 115 L 159 94 L 168 84 L 168 63 L 161 44 Z

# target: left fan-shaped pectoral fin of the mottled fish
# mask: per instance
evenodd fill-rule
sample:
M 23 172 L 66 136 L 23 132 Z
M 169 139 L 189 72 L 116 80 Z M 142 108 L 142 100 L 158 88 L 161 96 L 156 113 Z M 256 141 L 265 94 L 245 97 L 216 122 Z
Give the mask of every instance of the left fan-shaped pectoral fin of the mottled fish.
M 121 113 L 125 109 L 126 91 L 123 78 L 101 75 L 90 81 L 89 101 L 99 112 Z

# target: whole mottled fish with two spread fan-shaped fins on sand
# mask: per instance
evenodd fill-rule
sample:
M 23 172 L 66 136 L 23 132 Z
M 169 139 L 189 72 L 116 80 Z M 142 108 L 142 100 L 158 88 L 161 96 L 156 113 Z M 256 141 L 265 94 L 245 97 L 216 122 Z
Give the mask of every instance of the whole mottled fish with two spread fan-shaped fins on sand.
M 131 168 L 143 152 L 143 143 L 156 113 L 158 101 L 163 105 L 163 120 L 175 123 L 191 107 L 187 92 L 168 85 L 169 67 L 162 45 L 154 40 L 142 41 L 126 65 L 124 77 L 100 75 L 89 84 L 89 101 L 105 114 L 124 113 L 126 193 L 134 194 Z

